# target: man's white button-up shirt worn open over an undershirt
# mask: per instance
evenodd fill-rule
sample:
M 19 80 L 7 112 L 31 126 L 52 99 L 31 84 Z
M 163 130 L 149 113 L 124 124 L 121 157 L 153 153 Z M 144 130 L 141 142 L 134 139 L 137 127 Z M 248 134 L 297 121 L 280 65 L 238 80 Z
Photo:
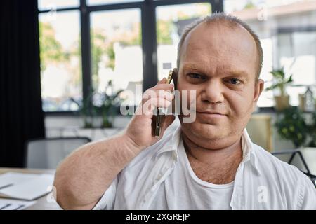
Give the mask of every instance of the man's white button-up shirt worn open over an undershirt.
M 178 164 L 181 128 L 178 119 L 164 137 L 146 148 L 114 179 L 94 209 L 149 209 L 159 186 Z M 312 181 L 242 134 L 243 159 L 237 169 L 232 209 L 316 209 Z M 169 209 L 182 209 L 169 204 Z

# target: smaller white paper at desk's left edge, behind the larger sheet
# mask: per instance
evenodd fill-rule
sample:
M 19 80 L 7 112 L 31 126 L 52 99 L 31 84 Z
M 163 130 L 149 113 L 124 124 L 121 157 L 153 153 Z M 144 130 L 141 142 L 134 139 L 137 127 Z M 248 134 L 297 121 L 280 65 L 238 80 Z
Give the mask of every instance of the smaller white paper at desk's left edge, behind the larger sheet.
M 22 173 L 15 173 L 15 172 L 0 174 L 0 188 L 4 188 L 6 186 L 10 186 L 13 184 L 29 181 L 38 176 L 39 174 L 22 174 Z

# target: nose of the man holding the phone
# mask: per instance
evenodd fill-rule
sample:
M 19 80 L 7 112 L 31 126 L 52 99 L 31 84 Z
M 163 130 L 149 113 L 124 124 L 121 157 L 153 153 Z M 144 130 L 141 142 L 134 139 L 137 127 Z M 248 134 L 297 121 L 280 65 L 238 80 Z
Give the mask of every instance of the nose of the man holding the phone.
M 224 101 L 223 86 L 220 80 L 209 80 L 202 90 L 202 101 L 220 103 Z

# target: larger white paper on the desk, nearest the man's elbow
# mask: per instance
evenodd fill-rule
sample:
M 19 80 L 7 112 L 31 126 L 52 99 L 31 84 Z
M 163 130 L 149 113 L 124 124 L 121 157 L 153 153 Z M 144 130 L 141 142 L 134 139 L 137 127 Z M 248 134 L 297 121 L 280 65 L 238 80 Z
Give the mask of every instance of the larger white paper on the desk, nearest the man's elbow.
M 0 195 L 20 200 L 35 200 L 50 193 L 53 179 L 53 174 L 37 174 L 35 178 L 0 189 Z

